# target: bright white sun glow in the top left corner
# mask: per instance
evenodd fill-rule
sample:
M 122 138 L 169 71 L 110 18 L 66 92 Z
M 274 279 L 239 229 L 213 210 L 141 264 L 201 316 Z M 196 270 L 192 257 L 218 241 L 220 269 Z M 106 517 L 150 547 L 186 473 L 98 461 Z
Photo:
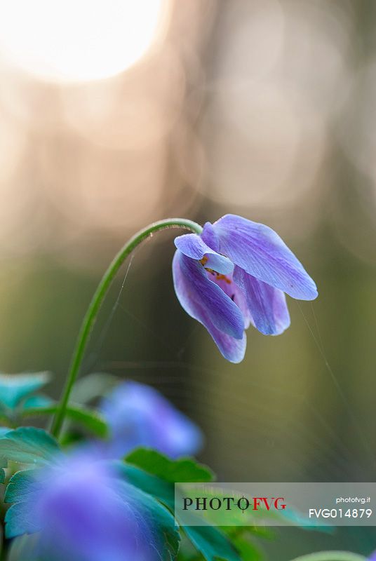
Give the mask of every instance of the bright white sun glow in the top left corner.
M 58 81 L 107 78 L 151 46 L 166 0 L 0 0 L 0 58 Z

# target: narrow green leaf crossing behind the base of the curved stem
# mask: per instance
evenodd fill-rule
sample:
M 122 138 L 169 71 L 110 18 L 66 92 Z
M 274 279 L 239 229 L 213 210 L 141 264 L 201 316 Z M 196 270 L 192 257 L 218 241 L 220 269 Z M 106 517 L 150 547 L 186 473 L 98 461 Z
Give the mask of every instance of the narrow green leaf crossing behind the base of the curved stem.
M 53 415 L 58 410 L 58 405 L 48 405 L 47 407 L 33 407 L 22 412 L 22 417 L 39 417 L 39 415 Z M 83 405 L 68 405 L 66 410 L 68 419 L 76 421 L 89 431 L 99 436 L 106 438 L 109 429 L 105 419 L 98 411 L 83 407 Z

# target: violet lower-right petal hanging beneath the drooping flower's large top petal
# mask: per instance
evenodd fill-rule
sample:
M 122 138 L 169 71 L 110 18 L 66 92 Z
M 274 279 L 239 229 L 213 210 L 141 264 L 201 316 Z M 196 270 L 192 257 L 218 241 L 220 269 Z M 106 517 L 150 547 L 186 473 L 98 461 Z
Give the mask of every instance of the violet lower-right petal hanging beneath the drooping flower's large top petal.
M 234 280 L 246 295 L 248 308 L 257 330 L 264 335 L 279 335 L 290 325 L 290 314 L 282 290 L 248 275 L 236 266 Z

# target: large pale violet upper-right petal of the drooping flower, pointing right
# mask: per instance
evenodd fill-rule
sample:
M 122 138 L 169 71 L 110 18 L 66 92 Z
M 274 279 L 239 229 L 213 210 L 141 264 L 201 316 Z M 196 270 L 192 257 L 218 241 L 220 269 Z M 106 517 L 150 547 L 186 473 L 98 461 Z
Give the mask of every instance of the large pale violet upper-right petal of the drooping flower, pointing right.
M 213 227 L 220 252 L 246 273 L 293 298 L 317 297 L 314 280 L 274 230 L 236 215 L 224 215 Z

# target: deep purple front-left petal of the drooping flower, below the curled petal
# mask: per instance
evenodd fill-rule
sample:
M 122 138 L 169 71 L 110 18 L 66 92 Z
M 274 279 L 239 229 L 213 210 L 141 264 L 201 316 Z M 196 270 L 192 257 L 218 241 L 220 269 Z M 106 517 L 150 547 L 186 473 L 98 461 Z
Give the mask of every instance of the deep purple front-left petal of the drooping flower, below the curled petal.
M 206 269 L 179 250 L 173 258 L 173 281 L 180 304 L 189 316 L 225 334 L 242 339 L 244 320 L 241 310 L 223 290 L 208 278 Z

